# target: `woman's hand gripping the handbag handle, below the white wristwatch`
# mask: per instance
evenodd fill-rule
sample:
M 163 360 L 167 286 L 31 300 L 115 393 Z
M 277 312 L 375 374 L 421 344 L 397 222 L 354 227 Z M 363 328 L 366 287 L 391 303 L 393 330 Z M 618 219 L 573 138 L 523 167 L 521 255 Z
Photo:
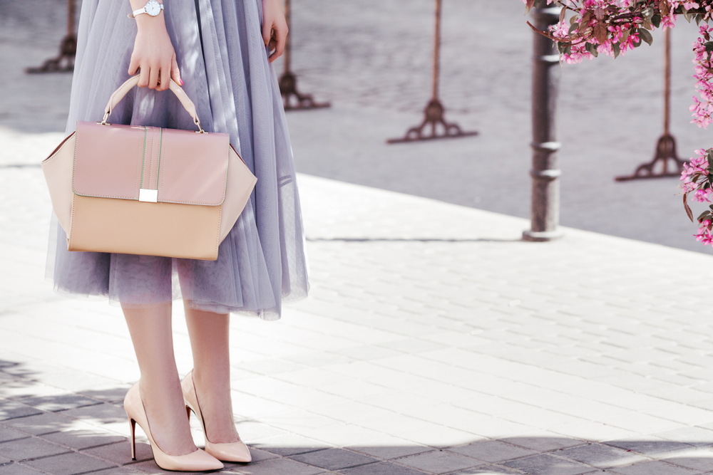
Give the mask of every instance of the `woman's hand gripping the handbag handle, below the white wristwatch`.
M 131 0 L 133 10 L 140 9 L 146 0 Z M 171 38 L 166 31 L 163 11 L 158 16 L 140 14 L 135 18 L 138 33 L 134 41 L 133 53 L 129 63 L 130 75 L 140 69 L 138 87 L 166 90 L 170 80 L 183 85 L 176 62 Z

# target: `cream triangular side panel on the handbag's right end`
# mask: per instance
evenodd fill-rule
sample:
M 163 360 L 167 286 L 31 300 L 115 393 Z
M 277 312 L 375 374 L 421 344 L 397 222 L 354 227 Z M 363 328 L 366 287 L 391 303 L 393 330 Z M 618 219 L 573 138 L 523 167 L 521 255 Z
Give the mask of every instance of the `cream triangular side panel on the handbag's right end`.
M 250 172 L 240 155 L 237 155 L 232 145 L 229 148 L 227 187 L 225 187 L 225 201 L 222 205 L 222 221 L 220 223 L 220 242 L 225 239 L 232 226 L 235 225 L 235 221 L 245 209 L 245 204 L 250 199 L 252 189 L 257 183 L 257 178 Z

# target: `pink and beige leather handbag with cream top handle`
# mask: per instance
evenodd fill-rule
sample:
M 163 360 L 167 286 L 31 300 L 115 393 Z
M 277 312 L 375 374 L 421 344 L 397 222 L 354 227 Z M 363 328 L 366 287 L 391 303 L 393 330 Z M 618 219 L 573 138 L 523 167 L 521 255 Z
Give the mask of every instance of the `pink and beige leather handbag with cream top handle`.
M 78 121 L 42 162 L 67 249 L 215 261 L 257 178 L 227 134 L 202 129 L 173 80 L 197 131 L 108 123 L 137 84 L 123 83 L 101 122 Z

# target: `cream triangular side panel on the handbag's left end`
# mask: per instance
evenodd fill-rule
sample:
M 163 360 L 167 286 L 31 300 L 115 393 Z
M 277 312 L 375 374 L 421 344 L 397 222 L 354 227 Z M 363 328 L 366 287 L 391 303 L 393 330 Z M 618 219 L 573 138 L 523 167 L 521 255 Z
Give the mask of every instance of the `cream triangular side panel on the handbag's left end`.
M 62 229 L 69 234 L 72 221 L 72 166 L 76 132 L 63 142 L 42 162 L 42 172 L 52 200 L 52 209 Z

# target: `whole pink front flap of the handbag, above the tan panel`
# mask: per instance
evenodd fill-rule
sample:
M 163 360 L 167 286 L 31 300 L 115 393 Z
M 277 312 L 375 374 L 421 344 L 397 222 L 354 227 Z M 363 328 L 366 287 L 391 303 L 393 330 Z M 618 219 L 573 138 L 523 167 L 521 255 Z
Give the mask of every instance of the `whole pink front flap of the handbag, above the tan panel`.
M 225 199 L 226 134 L 77 122 L 72 189 L 86 197 L 218 206 Z M 155 194 L 155 192 L 154 192 Z

